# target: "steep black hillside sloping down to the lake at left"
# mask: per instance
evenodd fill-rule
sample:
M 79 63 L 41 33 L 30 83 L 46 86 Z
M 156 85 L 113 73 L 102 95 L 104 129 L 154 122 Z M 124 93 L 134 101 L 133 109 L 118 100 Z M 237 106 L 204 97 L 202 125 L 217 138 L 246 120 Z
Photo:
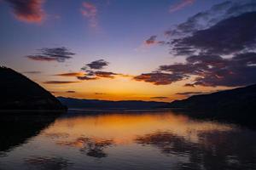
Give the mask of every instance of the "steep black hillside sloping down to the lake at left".
M 65 110 L 61 102 L 36 82 L 0 66 L 0 110 Z

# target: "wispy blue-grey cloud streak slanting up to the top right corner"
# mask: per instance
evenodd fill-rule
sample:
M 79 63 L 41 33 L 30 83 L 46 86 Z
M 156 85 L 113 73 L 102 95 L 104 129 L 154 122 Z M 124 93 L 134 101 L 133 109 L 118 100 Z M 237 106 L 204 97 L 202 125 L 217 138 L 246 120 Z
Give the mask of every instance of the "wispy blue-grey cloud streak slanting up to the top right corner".
M 185 22 L 174 26 L 172 29 L 166 31 L 168 36 L 183 36 L 188 33 L 191 34 L 195 31 L 207 29 L 221 20 L 230 17 L 236 17 L 240 14 L 253 12 L 256 10 L 256 3 L 251 0 L 243 1 L 225 1 L 213 5 L 212 8 L 197 13 Z

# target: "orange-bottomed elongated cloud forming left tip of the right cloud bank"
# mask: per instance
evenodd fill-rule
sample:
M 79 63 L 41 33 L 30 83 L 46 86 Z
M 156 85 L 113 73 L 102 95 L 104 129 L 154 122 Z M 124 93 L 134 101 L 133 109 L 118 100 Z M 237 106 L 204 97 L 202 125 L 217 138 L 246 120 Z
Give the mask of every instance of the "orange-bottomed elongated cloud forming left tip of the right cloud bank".
M 151 82 L 154 85 L 171 84 L 172 82 L 183 80 L 183 78 L 183 75 L 180 74 L 170 74 L 163 72 L 144 73 L 137 77 L 133 77 L 133 79 L 136 81 Z

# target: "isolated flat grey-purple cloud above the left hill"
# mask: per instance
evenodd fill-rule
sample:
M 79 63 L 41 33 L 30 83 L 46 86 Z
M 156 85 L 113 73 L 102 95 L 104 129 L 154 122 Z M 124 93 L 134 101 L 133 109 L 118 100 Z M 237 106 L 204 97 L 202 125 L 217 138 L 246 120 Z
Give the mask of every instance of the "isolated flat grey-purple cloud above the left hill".
M 61 48 L 41 48 L 38 49 L 38 54 L 27 55 L 26 58 L 37 61 L 57 61 L 65 62 L 67 59 L 72 59 L 74 53 L 70 52 L 65 47 Z

